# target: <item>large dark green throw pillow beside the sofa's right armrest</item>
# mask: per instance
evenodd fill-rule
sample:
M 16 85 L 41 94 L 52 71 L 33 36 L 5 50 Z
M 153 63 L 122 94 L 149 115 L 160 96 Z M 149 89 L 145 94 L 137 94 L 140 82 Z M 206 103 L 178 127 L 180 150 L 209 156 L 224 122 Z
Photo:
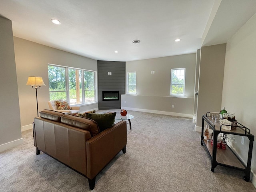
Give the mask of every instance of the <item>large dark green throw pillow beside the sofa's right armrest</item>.
M 97 122 L 100 132 L 114 125 L 116 112 L 107 114 L 86 113 L 86 117 Z

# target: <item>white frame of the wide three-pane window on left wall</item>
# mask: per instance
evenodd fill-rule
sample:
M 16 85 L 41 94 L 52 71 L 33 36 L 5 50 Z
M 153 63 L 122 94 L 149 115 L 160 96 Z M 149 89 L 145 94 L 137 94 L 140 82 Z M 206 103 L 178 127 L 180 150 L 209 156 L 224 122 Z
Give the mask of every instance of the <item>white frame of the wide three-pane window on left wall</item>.
M 67 67 L 67 66 L 60 66 L 60 65 L 54 65 L 54 64 L 48 64 L 48 66 L 55 66 L 55 67 L 61 67 L 65 68 L 65 81 L 66 81 L 66 91 L 50 91 L 50 92 L 66 92 L 66 100 L 68 103 L 70 103 L 69 98 L 69 77 L 68 77 L 68 69 L 75 69 L 75 70 L 82 70 L 82 103 L 80 104 L 73 104 L 70 106 L 79 106 L 79 105 L 85 105 L 85 104 L 92 104 L 98 102 L 98 87 L 97 87 L 97 72 L 93 70 L 86 70 L 86 69 L 80 69 L 80 68 L 73 68 L 73 67 Z M 94 72 L 94 102 L 85 102 L 85 92 L 84 92 L 84 71 L 90 71 Z

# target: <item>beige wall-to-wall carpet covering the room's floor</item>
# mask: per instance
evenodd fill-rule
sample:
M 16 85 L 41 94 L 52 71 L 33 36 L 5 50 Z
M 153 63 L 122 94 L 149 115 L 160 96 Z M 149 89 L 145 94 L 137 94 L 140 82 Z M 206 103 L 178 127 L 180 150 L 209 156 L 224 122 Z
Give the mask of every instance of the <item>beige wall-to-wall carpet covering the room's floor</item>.
M 127 126 L 126 154 L 120 152 L 100 172 L 93 191 L 256 192 L 241 171 L 221 166 L 210 171 L 210 158 L 191 119 L 128 113 L 134 119 L 132 130 Z M 85 177 L 42 152 L 36 155 L 32 130 L 22 137 L 23 145 L 0 153 L 1 192 L 90 191 Z

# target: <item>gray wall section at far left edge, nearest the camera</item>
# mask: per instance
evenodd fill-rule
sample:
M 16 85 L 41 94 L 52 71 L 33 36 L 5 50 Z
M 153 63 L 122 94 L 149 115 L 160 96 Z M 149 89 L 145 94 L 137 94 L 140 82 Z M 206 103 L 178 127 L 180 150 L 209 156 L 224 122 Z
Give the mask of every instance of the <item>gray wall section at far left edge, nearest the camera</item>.
M 22 141 L 12 21 L 0 17 L 0 152 L 2 144 Z M 14 144 L 15 146 L 15 144 Z

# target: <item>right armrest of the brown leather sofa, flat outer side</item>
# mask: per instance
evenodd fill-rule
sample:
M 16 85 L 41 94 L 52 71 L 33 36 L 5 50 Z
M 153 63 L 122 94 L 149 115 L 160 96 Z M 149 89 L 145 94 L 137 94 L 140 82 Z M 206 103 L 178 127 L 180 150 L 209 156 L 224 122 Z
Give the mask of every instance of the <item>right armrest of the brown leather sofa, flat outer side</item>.
M 86 141 L 87 176 L 93 179 L 125 146 L 126 121 L 121 121 Z

